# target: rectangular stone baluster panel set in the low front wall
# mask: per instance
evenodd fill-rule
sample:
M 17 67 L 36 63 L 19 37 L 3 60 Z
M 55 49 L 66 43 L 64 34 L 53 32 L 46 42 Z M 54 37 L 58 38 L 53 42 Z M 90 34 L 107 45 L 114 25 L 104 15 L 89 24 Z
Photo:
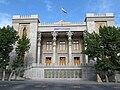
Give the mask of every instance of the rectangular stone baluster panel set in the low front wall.
M 82 78 L 81 69 L 45 69 L 44 78 Z

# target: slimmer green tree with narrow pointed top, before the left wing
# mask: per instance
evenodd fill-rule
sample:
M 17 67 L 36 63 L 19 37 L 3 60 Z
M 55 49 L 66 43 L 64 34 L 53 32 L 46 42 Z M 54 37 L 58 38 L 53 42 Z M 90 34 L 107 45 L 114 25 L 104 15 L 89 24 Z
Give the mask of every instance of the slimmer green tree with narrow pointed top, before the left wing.
M 24 28 L 22 37 L 19 38 L 17 42 L 16 59 L 12 63 L 12 73 L 15 72 L 15 76 L 16 76 L 15 79 L 17 78 L 18 74 L 21 71 L 23 71 L 25 53 L 29 50 L 29 48 L 30 48 L 30 40 L 27 38 L 26 28 Z M 12 73 L 10 75 L 10 78 L 12 76 Z

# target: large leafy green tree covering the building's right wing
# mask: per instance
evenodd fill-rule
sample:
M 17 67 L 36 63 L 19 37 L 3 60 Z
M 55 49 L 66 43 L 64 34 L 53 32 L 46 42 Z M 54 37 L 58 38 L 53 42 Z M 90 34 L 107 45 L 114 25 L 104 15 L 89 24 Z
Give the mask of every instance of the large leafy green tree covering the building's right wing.
M 86 49 L 83 51 L 90 60 L 96 60 L 97 71 L 104 71 L 106 81 L 108 74 L 120 70 L 120 32 L 115 27 L 100 27 L 99 34 L 85 33 L 84 43 Z

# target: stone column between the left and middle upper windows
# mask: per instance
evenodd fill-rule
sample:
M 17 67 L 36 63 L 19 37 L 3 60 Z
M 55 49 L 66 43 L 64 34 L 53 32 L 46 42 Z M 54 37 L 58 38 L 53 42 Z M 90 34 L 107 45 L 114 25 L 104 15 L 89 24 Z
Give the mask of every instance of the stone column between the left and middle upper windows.
M 56 64 L 56 37 L 57 37 L 57 33 L 54 31 L 52 32 L 52 36 L 53 36 L 53 61 L 52 64 L 55 65 Z

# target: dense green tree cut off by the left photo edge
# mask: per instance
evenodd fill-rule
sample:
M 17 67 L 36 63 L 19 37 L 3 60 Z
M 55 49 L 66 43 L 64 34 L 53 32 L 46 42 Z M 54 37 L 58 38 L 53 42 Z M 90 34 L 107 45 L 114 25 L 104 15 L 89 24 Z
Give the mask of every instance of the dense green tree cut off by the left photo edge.
M 9 65 L 9 54 L 17 40 L 17 31 L 13 27 L 0 28 L 0 68 L 3 71 L 2 80 L 5 77 L 6 66 Z

